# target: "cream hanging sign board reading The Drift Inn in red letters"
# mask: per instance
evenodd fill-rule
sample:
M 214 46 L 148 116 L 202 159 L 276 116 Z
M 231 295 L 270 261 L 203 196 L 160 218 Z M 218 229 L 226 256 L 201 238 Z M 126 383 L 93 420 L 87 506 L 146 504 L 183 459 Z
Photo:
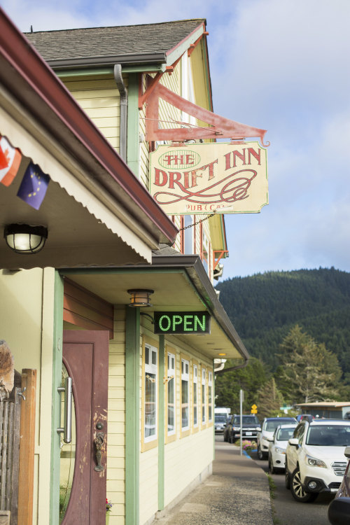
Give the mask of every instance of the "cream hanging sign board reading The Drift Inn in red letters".
M 158 146 L 150 192 L 168 215 L 259 213 L 268 204 L 266 148 L 257 141 Z

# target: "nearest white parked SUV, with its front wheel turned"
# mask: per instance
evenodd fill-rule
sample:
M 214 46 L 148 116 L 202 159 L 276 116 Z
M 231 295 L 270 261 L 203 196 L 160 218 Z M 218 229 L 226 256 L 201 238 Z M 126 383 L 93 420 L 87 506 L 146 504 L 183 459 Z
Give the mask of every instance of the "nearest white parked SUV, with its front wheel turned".
M 286 448 L 286 488 L 295 500 L 307 503 L 320 492 L 337 492 L 346 469 L 350 421 L 301 421 Z

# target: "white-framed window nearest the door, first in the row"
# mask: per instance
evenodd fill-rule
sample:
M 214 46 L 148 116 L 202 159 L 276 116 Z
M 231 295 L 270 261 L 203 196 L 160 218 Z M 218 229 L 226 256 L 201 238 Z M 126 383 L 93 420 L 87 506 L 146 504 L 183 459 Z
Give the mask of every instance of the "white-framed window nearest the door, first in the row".
M 144 442 L 149 442 L 158 434 L 158 349 L 151 344 L 145 344 L 144 388 Z

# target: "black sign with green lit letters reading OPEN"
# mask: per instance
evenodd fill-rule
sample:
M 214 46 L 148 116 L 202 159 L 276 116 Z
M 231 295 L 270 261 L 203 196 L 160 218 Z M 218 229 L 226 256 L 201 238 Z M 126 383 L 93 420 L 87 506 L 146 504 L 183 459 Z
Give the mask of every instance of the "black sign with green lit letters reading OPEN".
M 155 334 L 210 334 L 207 311 L 155 311 Z

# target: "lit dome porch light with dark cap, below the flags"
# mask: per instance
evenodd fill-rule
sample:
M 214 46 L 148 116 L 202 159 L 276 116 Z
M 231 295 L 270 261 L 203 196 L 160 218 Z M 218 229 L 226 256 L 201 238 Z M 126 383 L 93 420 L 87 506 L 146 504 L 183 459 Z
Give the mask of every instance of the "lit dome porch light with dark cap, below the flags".
M 48 229 L 45 226 L 8 224 L 3 230 L 3 237 L 15 253 L 38 253 L 48 238 Z

